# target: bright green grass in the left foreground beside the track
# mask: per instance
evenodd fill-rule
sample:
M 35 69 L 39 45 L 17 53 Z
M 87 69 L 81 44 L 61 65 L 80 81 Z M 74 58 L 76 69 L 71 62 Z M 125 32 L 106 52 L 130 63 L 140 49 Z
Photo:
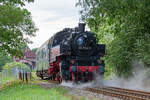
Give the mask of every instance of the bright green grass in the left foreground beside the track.
M 72 100 L 64 88 L 45 89 L 38 85 L 14 83 L 0 90 L 0 100 Z

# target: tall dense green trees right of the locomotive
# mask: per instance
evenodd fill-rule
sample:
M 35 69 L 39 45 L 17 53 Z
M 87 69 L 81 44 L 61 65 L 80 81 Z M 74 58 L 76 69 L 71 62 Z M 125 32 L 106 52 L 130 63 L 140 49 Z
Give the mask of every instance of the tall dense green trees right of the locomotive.
M 79 0 L 82 19 L 107 44 L 106 65 L 118 76 L 132 75 L 132 62 L 150 65 L 149 0 Z

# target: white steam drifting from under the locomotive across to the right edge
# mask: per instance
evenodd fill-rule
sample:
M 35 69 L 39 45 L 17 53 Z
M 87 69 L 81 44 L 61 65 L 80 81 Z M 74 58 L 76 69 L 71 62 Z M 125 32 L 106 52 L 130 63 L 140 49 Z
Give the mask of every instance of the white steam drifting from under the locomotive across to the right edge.
M 120 87 L 134 90 L 150 91 L 150 78 L 148 78 L 148 68 L 144 67 L 144 64 L 139 61 L 134 61 L 133 64 L 133 76 L 128 79 L 119 78 L 113 76 L 110 80 L 104 80 L 103 76 L 95 74 L 94 82 L 73 84 L 72 82 L 62 82 L 62 86 L 69 86 L 73 88 L 85 88 L 85 87 L 99 87 L 99 86 L 111 86 Z

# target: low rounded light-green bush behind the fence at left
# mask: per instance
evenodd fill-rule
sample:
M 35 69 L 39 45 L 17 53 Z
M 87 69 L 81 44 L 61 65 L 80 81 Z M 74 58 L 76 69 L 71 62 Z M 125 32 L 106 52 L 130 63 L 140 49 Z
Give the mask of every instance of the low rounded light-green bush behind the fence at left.
M 3 69 L 12 69 L 12 68 L 18 68 L 26 71 L 31 71 L 29 66 L 27 66 L 24 63 L 20 62 L 11 62 L 4 65 Z

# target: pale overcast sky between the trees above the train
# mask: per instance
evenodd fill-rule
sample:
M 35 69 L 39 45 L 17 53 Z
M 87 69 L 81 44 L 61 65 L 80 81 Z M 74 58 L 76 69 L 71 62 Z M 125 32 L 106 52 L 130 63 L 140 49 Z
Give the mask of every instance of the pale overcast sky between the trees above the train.
M 40 47 L 54 33 L 66 27 L 75 27 L 79 22 L 77 0 L 35 0 L 26 5 L 32 13 L 33 21 L 39 28 L 36 37 L 31 38 L 30 48 Z

